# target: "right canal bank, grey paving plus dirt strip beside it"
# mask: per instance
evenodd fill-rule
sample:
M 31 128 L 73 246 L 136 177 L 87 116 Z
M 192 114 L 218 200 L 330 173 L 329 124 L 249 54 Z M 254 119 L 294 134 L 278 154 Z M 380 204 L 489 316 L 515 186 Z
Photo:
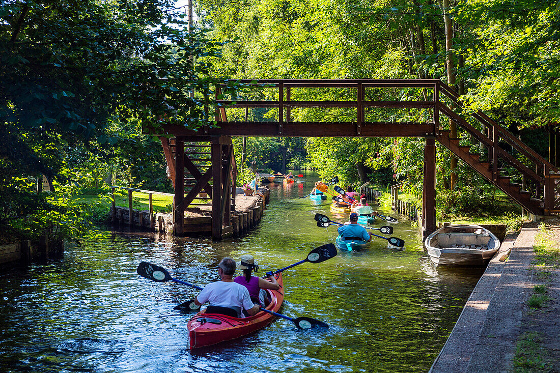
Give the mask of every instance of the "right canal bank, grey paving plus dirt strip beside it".
M 558 220 L 548 222 L 555 228 L 554 239 L 560 239 Z M 560 371 L 560 269 L 558 263 L 549 263 L 543 276 L 543 266 L 535 262 L 538 232 L 538 223 L 530 222 L 524 223 L 519 235 L 506 236 L 430 372 L 514 371 L 526 365 L 525 340 L 535 335 L 543 341 L 534 352 L 542 370 L 531 371 Z M 544 283 L 548 302 L 535 307 L 531 299 Z M 536 346 L 534 339 L 531 346 Z

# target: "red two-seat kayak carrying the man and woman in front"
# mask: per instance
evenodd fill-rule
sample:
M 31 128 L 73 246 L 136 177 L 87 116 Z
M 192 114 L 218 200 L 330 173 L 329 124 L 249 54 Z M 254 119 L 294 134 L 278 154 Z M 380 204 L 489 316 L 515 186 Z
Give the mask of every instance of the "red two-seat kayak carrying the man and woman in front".
M 282 287 L 282 272 L 277 273 L 276 280 L 280 285 L 279 290 L 267 290 L 270 304 L 267 310 L 278 312 L 284 300 Z M 221 314 L 198 313 L 189 320 L 189 348 L 211 346 L 212 344 L 230 341 L 255 332 L 272 323 L 276 316 L 259 312 L 248 318 L 239 319 Z

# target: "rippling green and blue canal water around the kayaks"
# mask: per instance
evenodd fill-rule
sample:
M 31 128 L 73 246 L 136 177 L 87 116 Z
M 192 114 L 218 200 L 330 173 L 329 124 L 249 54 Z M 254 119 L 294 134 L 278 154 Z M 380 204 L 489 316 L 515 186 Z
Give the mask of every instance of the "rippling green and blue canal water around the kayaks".
M 395 216 L 404 251 L 375 239 L 365 251 L 284 272 L 281 312 L 325 321 L 298 330 L 277 320 L 236 341 L 188 350 L 188 316 L 172 310 L 197 291 L 136 274 L 142 260 L 204 286 L 218 279 L 221 258 L 250 253 L 259 274 L 286 267 L 334 243 L 329 203 L 298 199 L 312 175 L 271 184 L 260 226 L 241 239 L 172 239 L 107 232 L 103 241 L 69 245 L 62 260 L 0 274 L 2 372 L 424 372 L 445 343 L 481 269 L 435 269 L 408 218 Z M 301 182 L 300 182 L 301 181 Z M 380 226 L 377 223 L 376 226 Z

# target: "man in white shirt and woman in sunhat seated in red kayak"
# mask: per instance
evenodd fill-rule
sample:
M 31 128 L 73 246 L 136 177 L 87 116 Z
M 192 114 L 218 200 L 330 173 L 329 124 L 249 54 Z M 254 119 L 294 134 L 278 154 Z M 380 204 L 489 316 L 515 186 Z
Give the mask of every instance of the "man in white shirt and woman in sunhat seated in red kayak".
M 243 276 L 234 278 L 236 268 L 243 271 Z M 239 263 L 232 258 L 223 258 L 218 265 L 220 281 L 204 287 L 194 303 L 200 306 L 209 302 L 206 313 L 210 314 L 223 314 L 235 318 L 255 315 L 260 311 L 260 307 L 265 307 L 269 301 L 265 289 L 280 288 L 272 272 L 267 273 L 270 281 L 251 274 L 258 269 L 253 255 L 243 255 Z

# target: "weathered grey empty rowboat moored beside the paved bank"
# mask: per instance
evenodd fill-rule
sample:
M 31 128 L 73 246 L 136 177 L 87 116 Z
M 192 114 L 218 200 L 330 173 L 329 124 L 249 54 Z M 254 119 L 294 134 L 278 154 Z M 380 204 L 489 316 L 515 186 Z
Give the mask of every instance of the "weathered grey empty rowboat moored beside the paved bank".
M 484 266 L 500 250 L 500 240 L 478 225 L 450 225 L 426 237 L 433 264 Z

